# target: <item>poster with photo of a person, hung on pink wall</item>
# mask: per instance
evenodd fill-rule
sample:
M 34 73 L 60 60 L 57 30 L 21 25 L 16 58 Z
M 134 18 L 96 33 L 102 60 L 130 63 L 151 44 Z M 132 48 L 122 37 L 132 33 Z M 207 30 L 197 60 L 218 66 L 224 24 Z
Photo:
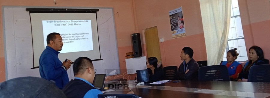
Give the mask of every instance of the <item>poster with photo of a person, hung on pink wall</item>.
M 182 7 L 169 11 L 169 15 L 173 39 L 185 37 L 186 33 Z

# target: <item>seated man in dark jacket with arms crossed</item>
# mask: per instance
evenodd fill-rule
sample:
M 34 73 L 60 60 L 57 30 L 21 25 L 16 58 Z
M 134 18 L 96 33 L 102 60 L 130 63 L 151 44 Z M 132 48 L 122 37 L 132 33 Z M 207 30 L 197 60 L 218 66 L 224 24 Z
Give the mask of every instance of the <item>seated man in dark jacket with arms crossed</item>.
M 193 50 L 190 47 L 184 47 L 181 52 L 181 60 L 176 73 L 176 79 L 181 80 L 198 80 L 199 78 L 199 64 L 192 58 Z

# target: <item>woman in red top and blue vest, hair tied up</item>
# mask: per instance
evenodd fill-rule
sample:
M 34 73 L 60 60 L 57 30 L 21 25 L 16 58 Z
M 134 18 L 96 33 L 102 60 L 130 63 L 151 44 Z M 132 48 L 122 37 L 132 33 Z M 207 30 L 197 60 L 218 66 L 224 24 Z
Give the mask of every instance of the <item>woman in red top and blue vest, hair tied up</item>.
M 235 61 L 237 59 L 237 56 L 239 55 L 237 52 L 237 48 L 231 49 L 227 52 L 227 61 L 223 61 L 221 65 L 226 65 L 228 68 L 229 76 L 231 81 L 236 80 L 237 74 L 241 73 L 242 71 L 242 65 Z

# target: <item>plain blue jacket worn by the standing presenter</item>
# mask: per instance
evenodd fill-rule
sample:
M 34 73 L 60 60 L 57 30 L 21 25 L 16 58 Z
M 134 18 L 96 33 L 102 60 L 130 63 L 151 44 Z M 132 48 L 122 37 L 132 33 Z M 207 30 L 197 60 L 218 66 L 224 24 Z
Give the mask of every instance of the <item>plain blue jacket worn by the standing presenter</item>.
M 49 46 L 42 52 L 39 58 L 39 73 L 41 78 L 55 81 L 55 85 L 63 89 L 69 82 L 67 71 L 62 68 L 62 62 L 58 58 L 60 52 Z

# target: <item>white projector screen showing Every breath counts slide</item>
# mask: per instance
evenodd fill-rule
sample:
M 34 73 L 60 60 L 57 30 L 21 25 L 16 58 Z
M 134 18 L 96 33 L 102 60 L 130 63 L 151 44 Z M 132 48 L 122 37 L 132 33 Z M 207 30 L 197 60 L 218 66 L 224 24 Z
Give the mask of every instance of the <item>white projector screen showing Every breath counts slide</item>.
M 34 68 L 47 46 L 46 37 L 52 32 L 61 34 L 62 50 L 58 57 L 74 61 L 78 57 L 101 60 L 96 13 L 31 13 Z

